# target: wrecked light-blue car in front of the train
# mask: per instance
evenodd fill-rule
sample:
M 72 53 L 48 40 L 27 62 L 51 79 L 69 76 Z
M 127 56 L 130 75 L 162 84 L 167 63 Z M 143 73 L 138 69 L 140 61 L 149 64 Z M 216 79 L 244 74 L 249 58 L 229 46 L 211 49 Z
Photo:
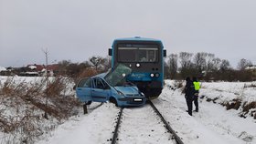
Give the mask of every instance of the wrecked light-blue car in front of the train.
M 142 106 L 146 100 L 144 94 L 126 81 L 131 72 L 130 67 L 119 64 L 108 73 L 81 78 L 76 87 L 77 97 L 88 105 L 110 101 L 117 107 Z

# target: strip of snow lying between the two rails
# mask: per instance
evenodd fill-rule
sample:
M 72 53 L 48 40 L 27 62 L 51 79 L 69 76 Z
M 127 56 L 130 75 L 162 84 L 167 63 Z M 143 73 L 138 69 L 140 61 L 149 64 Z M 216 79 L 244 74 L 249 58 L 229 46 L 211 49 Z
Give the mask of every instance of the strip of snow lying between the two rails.
M 124 108 L 122 121 L 118 137 L 120 143 L 172 143 L 164 123 L 149 105 Z

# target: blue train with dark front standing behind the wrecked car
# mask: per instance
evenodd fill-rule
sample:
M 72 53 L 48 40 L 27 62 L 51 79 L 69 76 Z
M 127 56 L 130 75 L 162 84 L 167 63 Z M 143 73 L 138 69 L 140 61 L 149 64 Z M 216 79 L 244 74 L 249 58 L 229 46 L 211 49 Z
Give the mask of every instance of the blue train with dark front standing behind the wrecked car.
M 157 98 L 163 89 L 164 57 L 166 50 L 161 40 L 144 37 L 118 38 L 109 49 L 112 68 L 123 64 L 132 68 L 127 77 L 147 98 Z

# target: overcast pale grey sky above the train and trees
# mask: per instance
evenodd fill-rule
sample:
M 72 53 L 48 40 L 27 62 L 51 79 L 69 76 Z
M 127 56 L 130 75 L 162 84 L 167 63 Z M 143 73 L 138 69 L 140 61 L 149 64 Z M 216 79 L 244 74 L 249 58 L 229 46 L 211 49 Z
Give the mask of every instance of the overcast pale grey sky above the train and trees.
M 0 66 L 106 57 L 114 38 L 161 39 L 256 65 L 256 0 L 0 0 Z

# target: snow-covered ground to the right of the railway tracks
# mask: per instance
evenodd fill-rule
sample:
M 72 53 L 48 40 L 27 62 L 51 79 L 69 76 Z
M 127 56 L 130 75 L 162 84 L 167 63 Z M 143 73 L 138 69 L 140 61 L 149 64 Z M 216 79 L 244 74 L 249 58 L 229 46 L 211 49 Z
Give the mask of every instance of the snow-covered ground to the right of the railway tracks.
M 170 85 L 171 82 L 167 81 L 167 85 L 168 83 Z M 240 85 L 244 84 L 240 83 Z M 200 96 L 209 98 L 220 90 L 218 87 L 234 91 L 242 89 L 242 87 L 240 89 L 234 87 L 239 86 L 238 83 L 203 83 L 203 86 L 208 87 L 200 90 Z M 253 92 L 256 94 L 255 88 L 251 89 L 250 93 Z M 232 91 L 229 91 L 229 95 L 232 96 Z M 223 95 L 223 101 L 232 100 L 229 95 Z M 251 95 L 248 97 L 243 95 L 243 97 L 251 99 Z M 193 112 L 193 117 L 189 117 L 185 112 L 187 107 L 181 90 L 171 90 L 169 87 L 165 87 L 162 95 L 154 102 L 185 143 L 256 143 L 256 120 L 252 117 L 240 118 L 239 110 L 226 110 L 218 103 L 199 99 L 199 112 Z

